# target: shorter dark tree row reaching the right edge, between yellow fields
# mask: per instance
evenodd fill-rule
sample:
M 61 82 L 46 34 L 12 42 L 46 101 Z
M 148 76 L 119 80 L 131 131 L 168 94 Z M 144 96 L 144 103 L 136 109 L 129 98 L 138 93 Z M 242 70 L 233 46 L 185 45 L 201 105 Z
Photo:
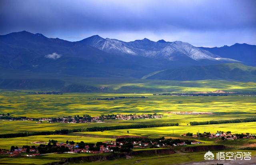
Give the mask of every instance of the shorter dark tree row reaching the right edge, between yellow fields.
M 245 118 L 245 119 L 231 119 L 231 120 L 211 120 L 211 121 L 201 121 L 201 122 L 197 122 L 197 121 L 193 121 L 190 122 L 190 125 L 208 125 L 208 124 L 225 124 L 225 123 L 246 123 L 246 122 L 254 122 L 256 121 L 256 117 L 252 117 L 252 118 Z

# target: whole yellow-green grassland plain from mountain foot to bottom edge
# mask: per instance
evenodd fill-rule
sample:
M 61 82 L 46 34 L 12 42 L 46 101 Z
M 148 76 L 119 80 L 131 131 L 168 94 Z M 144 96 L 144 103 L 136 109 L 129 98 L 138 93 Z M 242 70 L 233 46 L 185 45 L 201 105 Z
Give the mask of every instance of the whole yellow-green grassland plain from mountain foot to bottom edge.
M 256 134 L 256 122 L 228 123 L 215 125 L 190 126 L 190 121 L 228 120 L 256 116 L 255 96 L 166 96 L 153 95 L 155 91 L 166 92 L 194 92 L 194 91 L 224 91 L 255 92 L 256 83 L 252 82 L 227 82 L 219 80 L 204 80 L 194 82 L 159 81 L 159 80 L 129 80 L 111 82 L 110 80 L 100 81 L 98 78 L 84 79 L 81 83 L 96 86 L 107 86 L 112 93 L 64 93 L 63 95 L 33 95 L 28 91 L 0 91 L 0 113 L 10 113 L 13 116 L 26 117 L 62 117 L 88 114 L 91 116 L 101 114 L 142 114 L 160 113 L 164 117 L 160 119 L 135 119 L 135 120 L 105 120 L 103 123 L 36 123 L 36 121 L 0 121 L 0 134 L 17 133 L 27 131 L 54 131 L 56 129 L 74 129 L 114 125 L 133 124 L 158 124 L 158 123 L 179 123 L 179 126 L 154 127 L 129 129 L 129 135 L 156 137 L 172 137 L 183 139 L 194 139 L 192 137 L 181 137 L 187 132 L 215 132 L 231 131 L 232 133 Z M 158 90 L 160 89 L 160 90 Z M 123 91 L 129 91 L 125 93 Z M 137 93 L 133 93 L 137 92 Z M 138 93 L 140 92 L 140 93 Z M 146 96 L 146 99 L 116 99 L 97 100 L 95 98 L 118 97 L 118 96 Z M 172 111 L 198 111 L 212 112 L 212 115 L 176 115 Z M 84 141 L 96 143 L 97 141 L 110 141 L 120 135 L 128 135 L 126 129 L 94 132 L 77 132 L 68 135 L 39 135 L 29 137 L 2 138 L 0 148 L 10 149 L 11 145 L 33 145 L 33 141 L 47 142 L 55 139 L 59 142 Z M 198 139 L 194 139 L 198 140 Z M 199 139 L 206 144 L 224 144 L 227 146 L 248 146 L 256 143 L 255 139 L 242 139 L 241 141 L 216 141 L 210 139 Z M 118 159 L 116 161 L 94 162 L 94 164 L 178 164 L 184 162 L 202 161 L 204 153 L 176 153 L 173 155 L 161 155 L 151 157 L 134 157 L 133 159 Z M 255 152 L 254 152 L 255 155 Z M 0 164 L 44 164 L 58 161 L 62 157 L 79 156 L 73 154 L 50 154 L 40 157 L 18 157 L 0 158 Z M 81 155 L 82 156 L 82 155 Z M 171 162 L 171 163 L 170 163 Z M 88 164 L 88 163 L 85 163 Z

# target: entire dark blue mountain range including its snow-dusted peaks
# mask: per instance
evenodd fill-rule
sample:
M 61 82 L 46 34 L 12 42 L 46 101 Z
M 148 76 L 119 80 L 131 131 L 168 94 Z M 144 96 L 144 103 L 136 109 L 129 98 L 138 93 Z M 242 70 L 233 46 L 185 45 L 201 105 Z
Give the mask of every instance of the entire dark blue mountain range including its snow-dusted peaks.
M 237 64 L 241 61 L 242 64 L 256 66 L 256 45 L 236 43 L 220 48 L 198 48 L 180 41 L 153 42 L 144 38 L 123 42 L 97 35 L 70 42 L 26 31 L 0 35 L 0 43 L 0 69 L 2 76 L 8 79 L 15 79 L 16 72 L 28 72 L 28 75 L 31 72 L 104 78 L 146 76 L 161 80 L 239 81 L 254 81 L 256 75 L 254 68 Z M 15 74 L 10 77 L 12 73 Z M 8 82 L 2 81 L 2 85 L 18 87 L 21 84 L 16 80 Z M 44 81 L 39 84 L 44 84 Z

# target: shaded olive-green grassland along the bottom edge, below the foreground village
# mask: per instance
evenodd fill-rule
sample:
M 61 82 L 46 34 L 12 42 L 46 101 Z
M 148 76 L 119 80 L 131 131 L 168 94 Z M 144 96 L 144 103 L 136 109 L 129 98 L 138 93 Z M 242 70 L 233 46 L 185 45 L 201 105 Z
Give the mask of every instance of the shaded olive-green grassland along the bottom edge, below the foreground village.
M 237 151 L 242 151 L 244 150 L 228 150 L 231 152 L 237 152 Z M 248 151 L 245 151 L 248 152 Z M 255 155 L 256 151 L 250 151 L 252 153 L 252 160 L 250 161 L 253 163 L 255 160 Z M 216 151 L 213 152 L 214 155 L 216 155 Z M 177 164 L 182 164 L 182 163 L 192 163 L 192 162 L 200 162 L 200 163 L 207 163 L 207 161 L 204 160 L 204 154 L 205 152 L 194 152 L 194 153 L 175 153 L 171 155 L 139 155 L 139 156 L 133 156 L 131 159 L 115 159 L 112 161 L 96 161 L 96 162 L 88 162 L 88 163 L 79 163 L 80 165 L 117 165 L 117 164 L 122 164 L 122 165 L 130 165 L 130 164 L 135 164 L 135 165 L 155 165 L 161 163 L 161 165 L 177 165 Z M 50 163 L 50 162 L 55 162 L 59 161 L 62 157 L 78 157 L 78 156 L 86 156 L 89 154 L 82 153 L 82 154 L 49 154 L 49 155 L 44 155 L 40 157 L 22 157 L 22 158 L 2 158 L 0 159 L 0 164 L 5 164 L 5 165 L 42 165 L 45 163 Z M 90 154 L 92 155 L 92 154 Z M 216 161 L 215 161 L 216 162 Z M 238 162 L 238 161 L 236 161 Z M 240 162 L 240 161 L 239 161 Z M 210 161 L 210 163 L 214 163 L 213 161 Z M 217 162 L 216 162 L 217 163 Z M 216 164 L 215 163 L 215 164 Z M 224 163 L 221 161 L 218 161 L 218 163 Z M 228 163 L 227 161 L 225 163 Z M 231 162 L 230 163 L 234 163 Z M 241 163 L 241 162 L 240 162 Z M 249 163 L 244 161 L 244 163 Z M 70 163 L 71 165 L 75 165 L 77 163 Z

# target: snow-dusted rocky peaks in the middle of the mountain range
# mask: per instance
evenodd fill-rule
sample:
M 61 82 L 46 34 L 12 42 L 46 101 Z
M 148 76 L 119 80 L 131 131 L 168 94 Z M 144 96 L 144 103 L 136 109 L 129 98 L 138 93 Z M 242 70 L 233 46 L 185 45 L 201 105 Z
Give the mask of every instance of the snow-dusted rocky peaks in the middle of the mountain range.
M 222 58 L 217 54 L 212 54 L 207 50 L 197 48 L 189 43 L 181 41 L 166 42 L 164 40 L 159 40 L 158 42 L 154 42 L 144 38 L 143 40 L 124 42 L 110 38 L 104 39 L 95 35 L 79 42 L 112 54 L 165 58 L 172 61 L 190 58 L 196 61 L 212 60 L 239 62 L 230 58 Z

